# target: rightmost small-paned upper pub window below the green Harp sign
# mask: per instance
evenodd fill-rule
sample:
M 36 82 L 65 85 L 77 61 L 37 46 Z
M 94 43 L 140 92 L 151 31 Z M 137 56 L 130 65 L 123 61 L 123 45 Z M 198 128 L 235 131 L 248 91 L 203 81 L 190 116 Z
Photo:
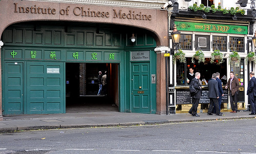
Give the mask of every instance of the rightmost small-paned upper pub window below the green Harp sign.
M 244 37 L 229 37 L 230 51 L 244 52 Z

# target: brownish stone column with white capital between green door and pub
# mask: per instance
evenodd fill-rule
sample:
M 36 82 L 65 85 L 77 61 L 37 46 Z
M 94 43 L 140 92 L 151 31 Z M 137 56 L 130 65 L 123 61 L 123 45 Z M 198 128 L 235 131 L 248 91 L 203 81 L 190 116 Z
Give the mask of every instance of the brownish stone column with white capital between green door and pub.
M 157 115 L 166 115 L 166 75 L 165 75 L 165 51 L 168 47 L 157 47 Z

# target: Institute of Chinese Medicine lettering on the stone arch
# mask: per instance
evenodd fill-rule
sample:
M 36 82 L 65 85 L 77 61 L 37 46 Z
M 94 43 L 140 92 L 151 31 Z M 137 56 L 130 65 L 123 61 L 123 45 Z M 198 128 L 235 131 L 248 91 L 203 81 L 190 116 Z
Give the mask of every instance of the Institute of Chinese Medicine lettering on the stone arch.
M 64 9 L 59 10 L 60 15 L 69 15 L 70 6 L 67 6 Z M 15 13 L 34 13 L 34 14 L 56 14 L 56 9 L 51 7 L 41 8 L 37 5 L 32 5 L 30 7 L 19 6 L 18 3 L 14 3 L 14 12 Z M 75 7 L 73 9 L 73 13 L 76 16 L 88 16 L 88 17 L 106 17 L 109 18 L 111 16 L 110 12 L 104 11 L 95 11 L 90 8 L 84 7 Z M 130 10 L 128 12 L 123 12 L 123 10 L 113 9 L 113 18 L 120 19 L 136 19 L 136 20 L 152 20 L 152 16 L 148 14 L 143 14 L 142 12 L 135 12 Z

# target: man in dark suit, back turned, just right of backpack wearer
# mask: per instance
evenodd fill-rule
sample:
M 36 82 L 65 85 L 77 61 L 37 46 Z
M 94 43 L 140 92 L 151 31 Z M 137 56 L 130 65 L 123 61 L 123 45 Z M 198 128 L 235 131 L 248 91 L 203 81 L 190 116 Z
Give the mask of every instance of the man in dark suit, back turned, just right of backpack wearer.
M 209 95 L 208 97 L 210 98 L 210 104 L 209 104 L 209 109 L 207 115 L 212 115 L 212 107 L 215 104 L 216 107 L 216 115 L 217 116 L 222 116 L 220 114 L 220 108 L 219 108 L 219 103 L 218 103 L 218 98 L 219 98 L 219 90 L 218 90 L 218 81 L 216 81 L 217 75 L 216 73 L 212 74 L 212 78 L 208 81 L 208 91 Z

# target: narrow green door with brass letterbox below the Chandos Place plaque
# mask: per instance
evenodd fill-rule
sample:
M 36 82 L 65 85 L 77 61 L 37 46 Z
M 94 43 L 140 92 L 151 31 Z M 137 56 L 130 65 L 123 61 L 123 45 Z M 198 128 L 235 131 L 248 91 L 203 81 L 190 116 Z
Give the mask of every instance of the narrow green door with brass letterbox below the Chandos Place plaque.
M 151 113 L 150 62 L 131 63 L 131 109 L 133 113 Z

